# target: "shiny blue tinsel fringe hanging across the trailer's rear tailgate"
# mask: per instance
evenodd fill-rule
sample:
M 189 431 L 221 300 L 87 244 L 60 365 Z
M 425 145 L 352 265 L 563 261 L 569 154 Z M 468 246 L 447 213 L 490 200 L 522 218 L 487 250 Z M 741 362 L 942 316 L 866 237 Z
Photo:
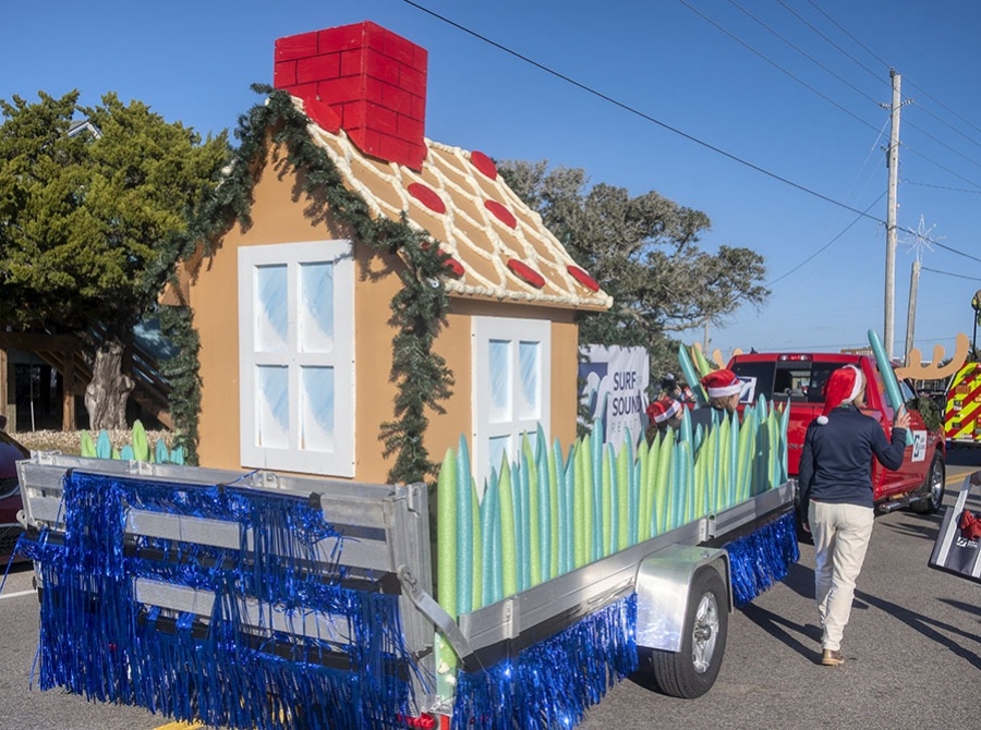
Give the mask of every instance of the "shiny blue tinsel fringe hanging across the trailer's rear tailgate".
M 70 474 L 63 509 L 63 543 L 43 532 L 21 546 L 44 586 L 43 690 L 250 730 L 401 727 L 412 705 L 412 664 L 398 597 L 342 587 L 337 564 L 326 576 L 308 570 L 317 543 L 340 536 L 307 499 Z M 168 559 L 142 558 L 124 549 L 128 509 L 234 521 L 241 546 L 141 537 L 138 547 Z M 161 626 L 160 609 L 135 600 L 137 577 L 214 592 L 213 613 L 171 615 Z M 243 599 L 257 600 L 267 617 L 274 606 L 288 620 L 308 611 L 339 617 L 351 643 L 268 631 L 257 640 L 240 621 Z M 324 656 L 353 669 L 325 666 L 317 660 Z M 392 665 L 403 670 L 382 670 Z

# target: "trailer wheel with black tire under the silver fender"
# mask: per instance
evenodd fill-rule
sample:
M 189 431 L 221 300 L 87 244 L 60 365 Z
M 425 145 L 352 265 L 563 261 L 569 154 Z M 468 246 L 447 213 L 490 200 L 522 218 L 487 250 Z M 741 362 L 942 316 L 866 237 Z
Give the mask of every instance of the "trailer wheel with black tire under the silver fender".
M 680 652 L 654 649 L 651 668 L 657 685 L 674 697 L 701 697 L 718 677 L 729 625 L 726 586 L 714 568 L 695 573 Z

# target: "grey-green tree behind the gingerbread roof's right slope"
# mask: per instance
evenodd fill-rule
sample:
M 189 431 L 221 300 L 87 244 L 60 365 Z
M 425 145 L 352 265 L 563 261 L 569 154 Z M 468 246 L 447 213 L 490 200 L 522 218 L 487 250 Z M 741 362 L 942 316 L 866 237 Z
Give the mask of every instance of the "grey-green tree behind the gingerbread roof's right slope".
M 589 184 L 579 168 L 504 160 L 498 170 L 537 210 L 569 254 L 613 296 L 605 313 L 579 316 L 582 344 L 642 345 L 653 373 L 678 369 L 678 333 L 720 324 L 740 305 L 762 304 L 763 257 L 750 248 L 699 247 L 708 217 L 651 191 Z

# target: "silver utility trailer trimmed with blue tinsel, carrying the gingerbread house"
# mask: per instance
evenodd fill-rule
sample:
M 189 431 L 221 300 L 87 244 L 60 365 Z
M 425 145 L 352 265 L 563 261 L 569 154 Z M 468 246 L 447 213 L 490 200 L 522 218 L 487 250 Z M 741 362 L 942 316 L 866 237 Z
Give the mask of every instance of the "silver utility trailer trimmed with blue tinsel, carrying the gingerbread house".
M 423 484 L 52 453 L 19 476 L 41 689 L 218 727 L 569 727 L 639 667 L 699 696 L 734 583 L 798 557 L 788 482 L 455 620 Z

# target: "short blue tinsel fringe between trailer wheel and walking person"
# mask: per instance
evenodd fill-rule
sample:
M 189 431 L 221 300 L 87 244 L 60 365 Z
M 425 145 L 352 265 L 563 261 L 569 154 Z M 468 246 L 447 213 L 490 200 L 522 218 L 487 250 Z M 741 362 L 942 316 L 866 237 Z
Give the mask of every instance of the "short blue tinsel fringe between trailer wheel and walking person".
M 732 603 L 744 606 L 787 577 L 790 565 L 800 559 L 794 513 L 725 546 L 729 552 Z

